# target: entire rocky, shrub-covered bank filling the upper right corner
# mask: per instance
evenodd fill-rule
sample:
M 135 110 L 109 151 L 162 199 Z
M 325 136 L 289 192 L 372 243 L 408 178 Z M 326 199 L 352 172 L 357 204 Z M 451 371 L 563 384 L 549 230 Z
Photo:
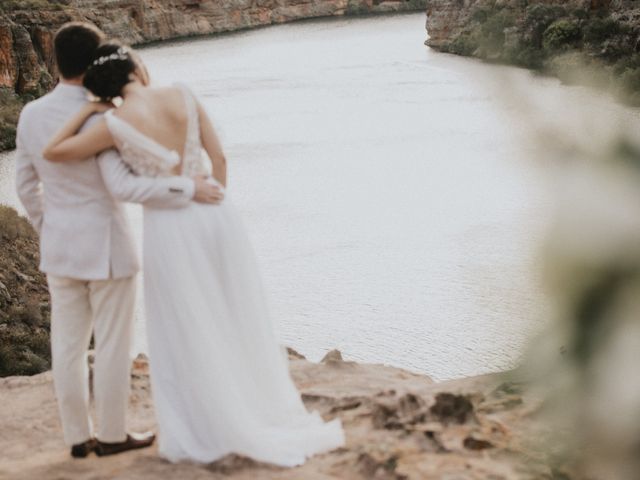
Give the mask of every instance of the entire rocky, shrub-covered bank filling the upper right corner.
M 427 2 L 427 45 L 517 65 L 640 105 L 640 8 L 627 0 Z

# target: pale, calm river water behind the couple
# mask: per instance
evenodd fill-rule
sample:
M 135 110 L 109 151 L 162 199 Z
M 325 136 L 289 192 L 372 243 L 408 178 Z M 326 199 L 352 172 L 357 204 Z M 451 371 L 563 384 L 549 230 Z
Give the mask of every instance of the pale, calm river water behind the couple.
M 637 115 L 431 51 L 424 20 L 302 22 L 142 54 L 214 119 L 283 343 L 445 379 L 513 367 L 546 320 L 536 252 L 553 169 L 526 141 L 523 99 Z M 13 156 L 0 202 L 18 206 Z

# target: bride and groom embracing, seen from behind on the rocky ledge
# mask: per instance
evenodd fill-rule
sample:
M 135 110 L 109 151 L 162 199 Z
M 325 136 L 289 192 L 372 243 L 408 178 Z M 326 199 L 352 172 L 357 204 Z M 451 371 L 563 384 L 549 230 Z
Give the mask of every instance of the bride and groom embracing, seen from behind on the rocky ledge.
M 198 99 L 184 85 L 150 87 L 138 55 L 89 24 L 63 26 L 55 54 L 60 83 L 20 117 L 16 175 L 40 233 L 53 378 L 71 454 L 115 454 L 155 439 L 126 429 L 138 261 L 121 202 L 145 207 L 160 455 L 204 463 L 236 453 L 294 466 L 341 446 L 339 421 L 307 412 L 290 378 L 251 245 L 225 198 L 225 157 Z

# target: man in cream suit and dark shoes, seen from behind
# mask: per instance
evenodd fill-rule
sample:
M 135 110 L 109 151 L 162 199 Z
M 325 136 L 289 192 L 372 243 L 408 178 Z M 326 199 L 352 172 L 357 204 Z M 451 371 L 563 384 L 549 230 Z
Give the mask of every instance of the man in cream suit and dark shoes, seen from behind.
M 70 23 L 58 31 L 60 83 L 24 108 L 17 132 L 17 191 L 40 234 L 40 268 L 51 293 L 53 380 L 73 457 L 91 451 L 110 455 L 154 441 L 149 433 L 127 433 L 125 425 L 139 266 L 120 202 L 182 208 L 192 200 L 222 200 L 221 191 L 204 177 L 135 176 L 114 150 L 71 163 L 42 157 L 49 139 L 88 101 L 82 80 L 103 40 L 90 24 Z M 92 333 L 95 437 L 86 359 Z

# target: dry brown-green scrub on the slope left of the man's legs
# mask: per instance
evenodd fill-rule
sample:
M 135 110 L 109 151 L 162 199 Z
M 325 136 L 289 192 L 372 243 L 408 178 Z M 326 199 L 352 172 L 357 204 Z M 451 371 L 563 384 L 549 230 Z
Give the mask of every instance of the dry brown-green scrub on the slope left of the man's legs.
M 0 205 L 0 377 L 51 368 L 49 296 L 29 222 Z

